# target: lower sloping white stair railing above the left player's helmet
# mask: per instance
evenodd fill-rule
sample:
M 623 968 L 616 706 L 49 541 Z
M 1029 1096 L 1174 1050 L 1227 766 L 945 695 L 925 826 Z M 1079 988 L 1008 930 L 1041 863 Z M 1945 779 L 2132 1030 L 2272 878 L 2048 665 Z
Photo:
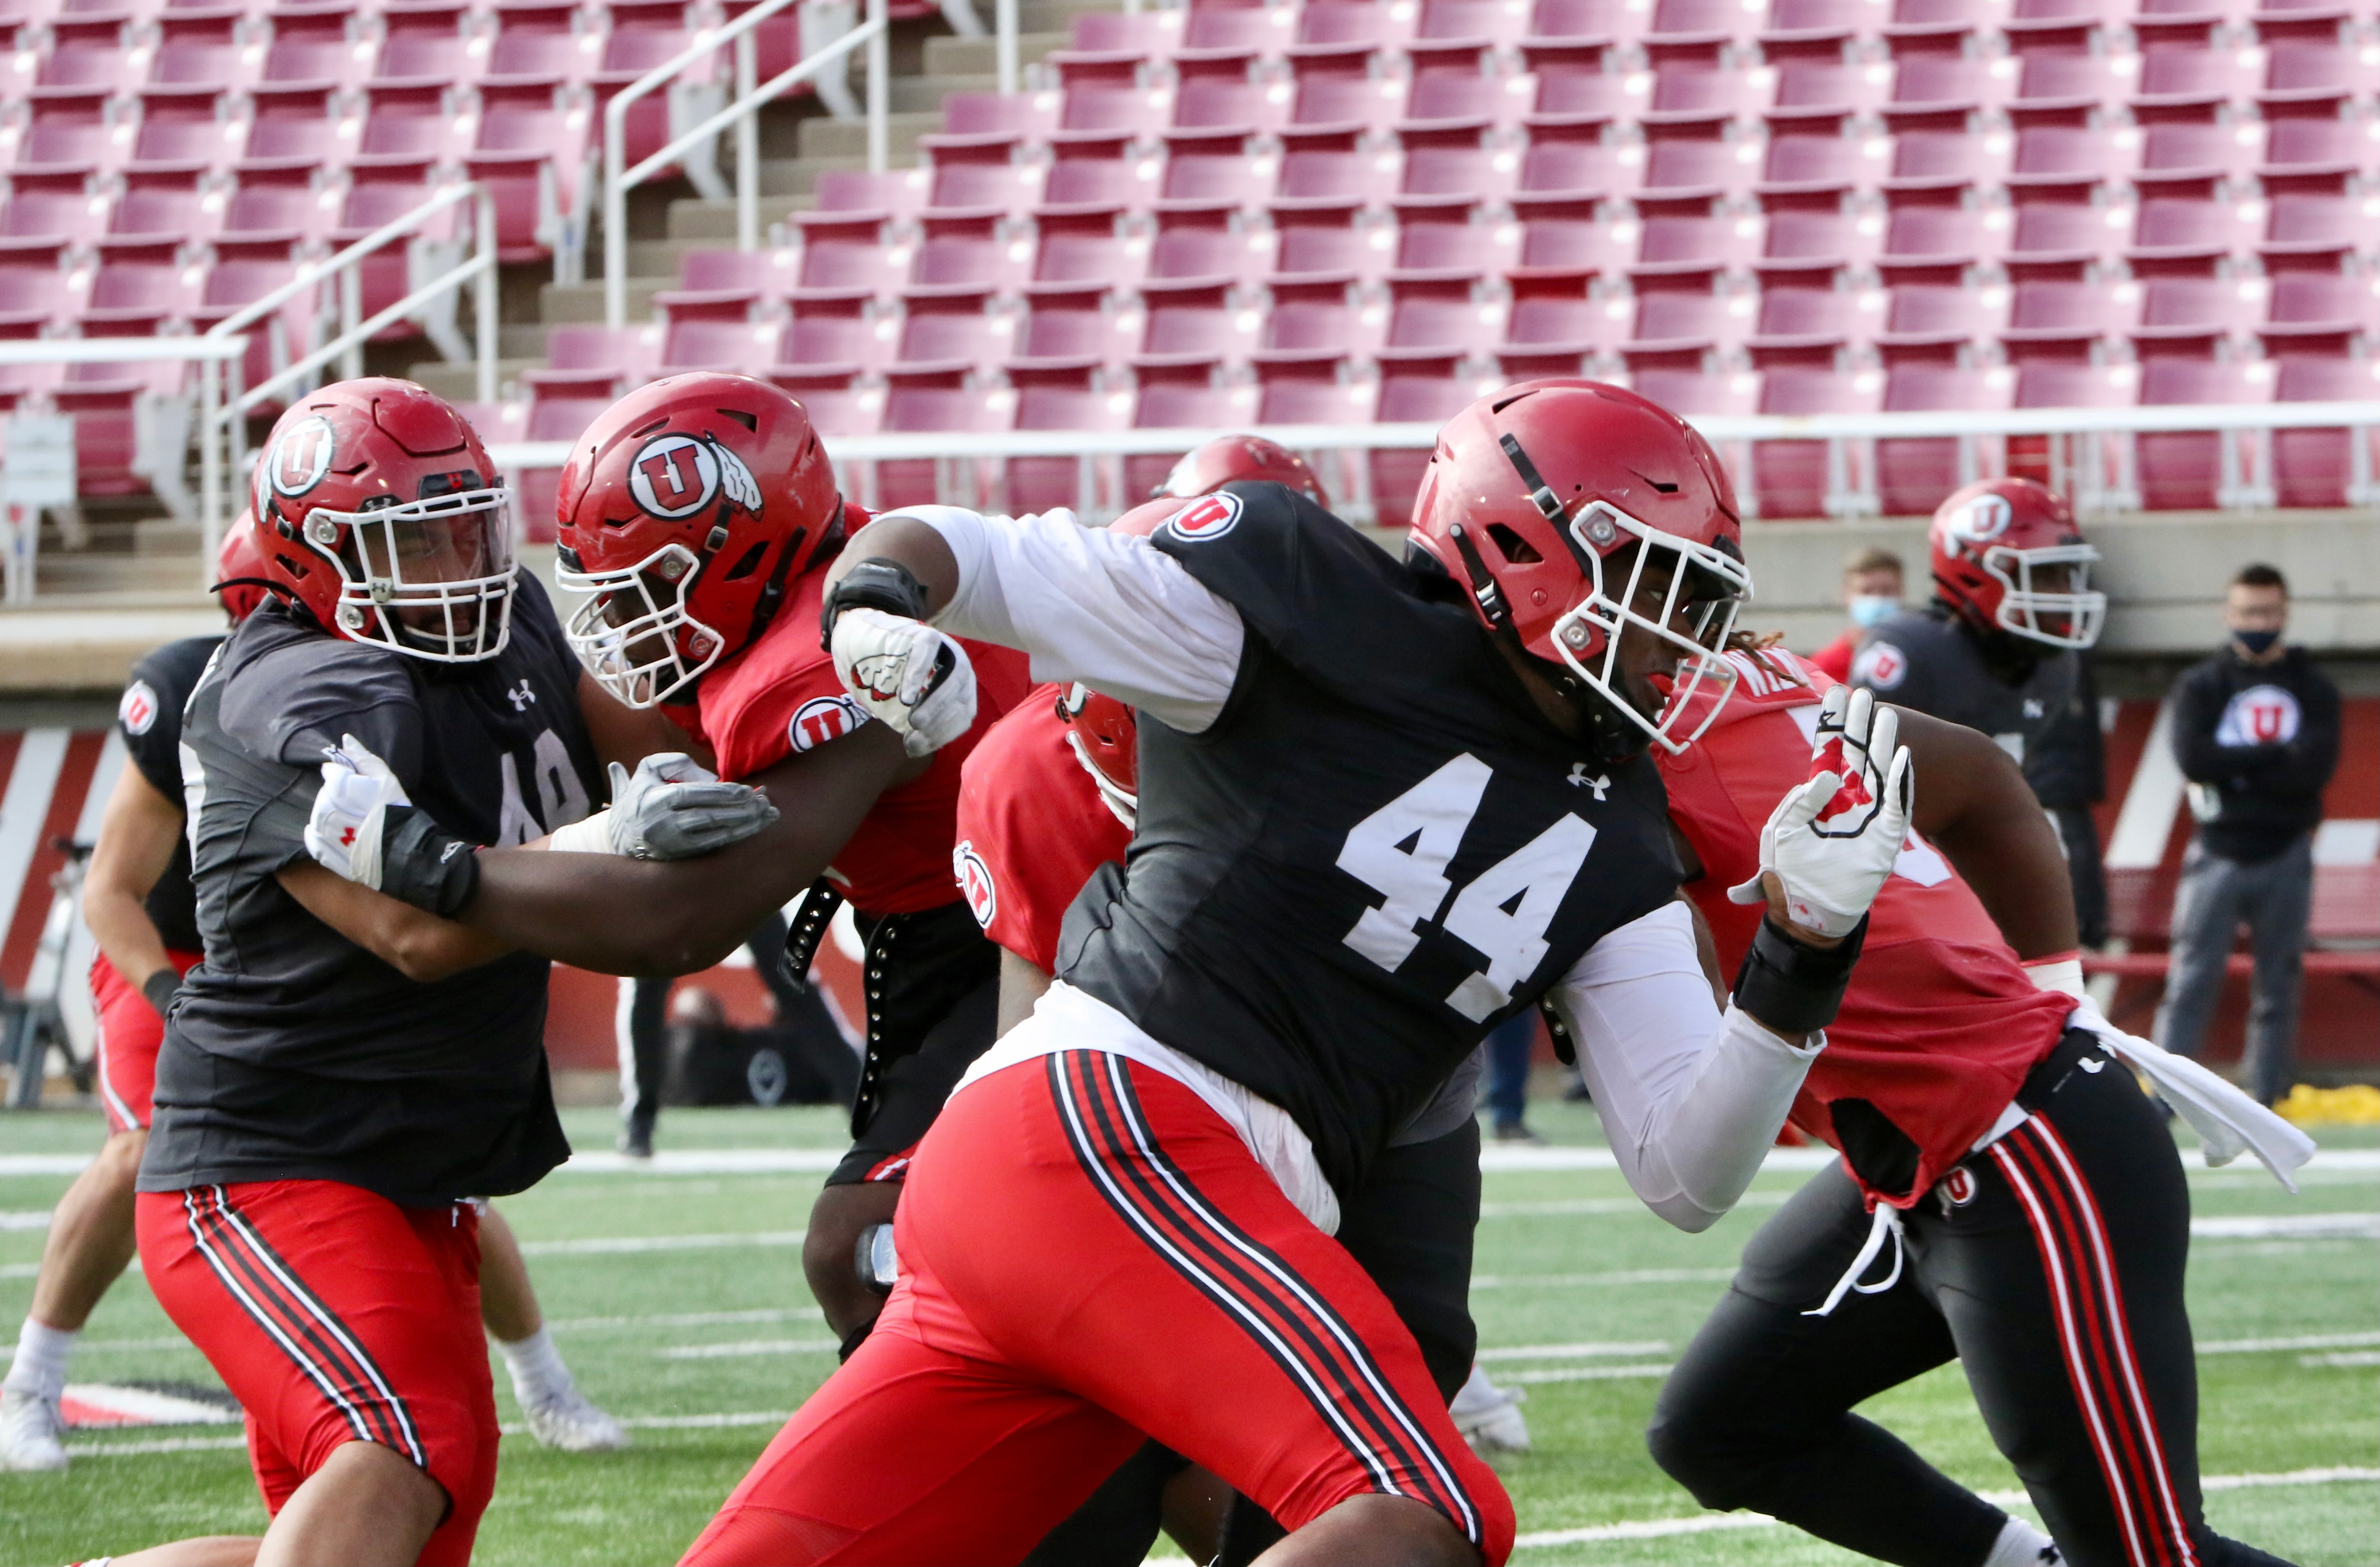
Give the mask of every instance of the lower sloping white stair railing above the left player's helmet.
M 416 283 L 405 298 L 374 312 L 369 319 L 357 319 L 362 314 L 362 288 L 357 264 L 388 248 L 393 241 L 414 241 L 424 224 L 433 217 L 471 202 L 471 257 L 447 267 L 445 271 Z M 226 483 L 228 476 L 245 474 L 248 469 L 248 414 L 259 402 L 288 386 L 309 383 L 314 372 L 331 360 L 340 362 L 343 374 L 359 374 L 359 355 L 367 341 L 383 326 L 390 326 L 407 317 L 421 317 L 431 305 L 447 310 L 459 295 L 464 283 L 474 286 L 471 314 L 476 326 L 476 362 L 478 362 L 478 400 L 495 402 L 495 357 L 497 357 L 497 310 L 495 310 L 495 283 L 497 283 L 497 250 L 495 250 L 495 198 L 486 183 L 464 181 L 452 183 L 431 195 L 426 202 L 412 212 L 395 217 L 364 238 L 355 241 L 338 255 L 309 262 L 298 269 L 298 274 L 250 305 L 243 305 L 233 314 L 224 317 L 207 329 L 205 341 L 236 341 L 245 343 L 245 333 L 257 324 L 267 321 L 271 326 L 278 321 L 278 312 L 305 291 L 314 288 L 328 276 L 340 281 L 340 331 L 326 343 L 314 345 L 288 364 L 278 367 L 274 374 L 264 376 L 255 386 L 240 386 L 240 360 L 243 355 L 209 355 L 200 364 L 200 419 L 198 419 L 198 443 L 200 443 L 200 526 L 202 526 L 202 555 L 200 572 L 207 581 L 214 579 L 214 550 L 228 524 L 226 502 L 233 486 Z M 450 317 L 447 317 L 450 319 Z M 231 383 L 226 386 L 226 369 Z

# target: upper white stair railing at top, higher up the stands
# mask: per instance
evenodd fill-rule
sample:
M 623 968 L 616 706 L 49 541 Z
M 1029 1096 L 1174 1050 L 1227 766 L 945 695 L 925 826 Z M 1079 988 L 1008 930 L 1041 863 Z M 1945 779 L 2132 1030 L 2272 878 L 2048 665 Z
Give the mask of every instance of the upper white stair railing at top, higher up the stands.
M 602 112 L 602 310 L 609 326 L 628 324 L 628 191 L 645 183 L 659 169 L 678 162 L 690 148 L 709 143 L 719 131 L 735 126 L 735 248 L 757 250 L 759 248 L 759 107 L 783 98 L 788 88 L 795 88 L 826 67 L 840 64 L 845 55 L 866 45 L 869 50 L 869 171 L 883 174 L 890 160 L 890 143 L 885 138 L 885 110 L 890 105 L 888 95 L 888 57 L 885 57 L 885 33 L 890 19 L 885 17 L 885 0 L 869 0 L 869 19 L 850 29 L 833 43 L 828 43 L 816 55 L 804 52 L 800 62 L 778 71 L 769 81 L 754 83 L 754 40 L 752 29 L 757 29 L 769 17 L 802 5 L 802 0 L 762 0 L 743 17 L 735 17 L 716 33 L 700 36 L 693 45 L 671 60 L 652 67 L 633 83 L 621 88 Z M 659 152 L 645 157 L 633 169 L 626 169 L 626 136 L 628 136 L 628 105 L 638 98 L 674 81 L 685 67 L 697 60 L 709 57 L 714 50 L 733 43 L 735 45 L 735 100 L 724 110 L 704 119 L 702 124 L 683 131 L 669 141 Z

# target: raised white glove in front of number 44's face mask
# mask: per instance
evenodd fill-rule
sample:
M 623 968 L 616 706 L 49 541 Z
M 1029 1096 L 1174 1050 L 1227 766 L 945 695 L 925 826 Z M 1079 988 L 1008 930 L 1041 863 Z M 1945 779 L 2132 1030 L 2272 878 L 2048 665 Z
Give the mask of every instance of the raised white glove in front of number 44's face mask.
M 1909 841 L 1914 784 L 1899 714 L 1866 691 L 1835 686 L 1818 710 L 1811 779 L 1778 800 L 1761 829 L 1761 874 L 1785 886 L 1785 917 L 1821 936 L 1849 936 Z M 1730 903 L 1766 903 L 1761 876 L 1728 888 Z

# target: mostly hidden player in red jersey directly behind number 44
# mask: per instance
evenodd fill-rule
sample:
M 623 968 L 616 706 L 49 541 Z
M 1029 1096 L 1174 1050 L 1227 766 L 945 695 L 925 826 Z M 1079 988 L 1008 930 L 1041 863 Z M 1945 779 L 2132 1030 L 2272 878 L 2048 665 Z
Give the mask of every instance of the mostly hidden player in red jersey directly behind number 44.
M 1278 457 L 1259 464 L 1250 457 L 1252 448 L 1269 448 Z M 1202 452 L 1216 457 L 1202 474 L 1209 493 L 1235 479 L 1269 479 L 1295 462 L 1280 483 L 1328 507 L 1311 474 L 1292 483 L 1304 462 L 1271 441 L 1223 436 Z M 1178 500 L 1157 500 L 1109 526 L 1147 536 L 1178 510 Z M 966 757 L 952 869 L 976 919 L 1002 948 L 1002 1034 L 1050 988 L 1066 905 L 1100 864 L 1123 862 L 1138 788 L 1133 710 L 1085 686 L 1035 691 Z M 1440 1396 L 1449 1400 L 1476 1374 L 1471 1353 L 1478 1331 L 1468 1284 L 1480 1200 L 1480 1134 L 1473 1119 L 1478 1067 L 1473 1053 L 1438 1098 L 1390 1138 L 1345 1205 L 1338 1231 L 1347 1253 L 1388 1293 Z M 1509 1407 L 1509 1398 L 1497 1407 Z M 1095 1557 L 1097 1541 L 1128 1546 L 1114 1560 L 1138 1562 L 1147 1555 L 1159 1515 L 1197 1562 L 1219 1560 L 1219 1553 L 1226 1565 L 1247 1562 L 1280 1536 L 1254 1507 L 1230 1505 L 1228 1515 L 1219 1515 L 1216 1498 L 1230 1503 L 1230 1491 L 1150 1443 L 1028 1560 L 1107 1560 Z

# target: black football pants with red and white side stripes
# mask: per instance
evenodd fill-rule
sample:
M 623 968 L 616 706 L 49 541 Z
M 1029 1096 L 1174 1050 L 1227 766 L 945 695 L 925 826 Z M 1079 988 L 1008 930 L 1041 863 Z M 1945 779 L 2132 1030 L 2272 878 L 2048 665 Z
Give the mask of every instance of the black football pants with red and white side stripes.
M 1809 1312 L 1871 1222 L 1840 1165 L 1795 1193 L 1661 1388 L 1652 1455 L 1704 1507 L 1754 1507 L 1904 1567 L 1978 1567 L 2006 1515 L 1852 1415 L 1959 1360 L 2073 1567 L 2275 1562 L 2199 1507 L 2190 1191 L 2163 1117 L 2080 1034 L 2018 1103 L 2030 1122 L 1904 1215 L 1899 1279 L 1830 1317 Z M 1887 1241 L 1866 1279 L 1892 1257 Z

